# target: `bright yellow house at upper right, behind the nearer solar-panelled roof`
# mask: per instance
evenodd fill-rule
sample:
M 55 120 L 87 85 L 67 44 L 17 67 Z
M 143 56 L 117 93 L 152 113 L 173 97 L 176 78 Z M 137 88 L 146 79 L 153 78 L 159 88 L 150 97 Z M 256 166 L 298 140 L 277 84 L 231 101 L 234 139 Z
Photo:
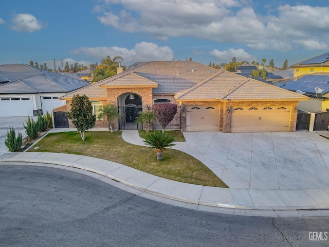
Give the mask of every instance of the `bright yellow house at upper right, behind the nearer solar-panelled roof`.
M 329 73 L 329 52 L 293 64 L 290 67 L 295 69 L 294 77 L 314 73 Z

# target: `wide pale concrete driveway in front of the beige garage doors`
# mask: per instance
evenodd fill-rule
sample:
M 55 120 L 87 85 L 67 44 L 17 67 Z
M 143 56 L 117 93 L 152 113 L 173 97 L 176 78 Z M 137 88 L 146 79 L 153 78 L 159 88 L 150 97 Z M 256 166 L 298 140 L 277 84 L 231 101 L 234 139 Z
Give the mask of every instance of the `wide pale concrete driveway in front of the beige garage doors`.
M 313 132 L 184 132 L 190 153 L 230 188 L 329 188 L 329 140 Z

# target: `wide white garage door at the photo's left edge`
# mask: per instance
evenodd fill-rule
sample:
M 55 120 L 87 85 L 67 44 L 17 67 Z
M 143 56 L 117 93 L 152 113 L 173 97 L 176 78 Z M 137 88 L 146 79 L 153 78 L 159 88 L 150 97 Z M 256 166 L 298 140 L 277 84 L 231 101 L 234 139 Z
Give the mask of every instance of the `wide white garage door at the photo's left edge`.
M 31 97 L 0 98 L 0 117 L 33 116 Z

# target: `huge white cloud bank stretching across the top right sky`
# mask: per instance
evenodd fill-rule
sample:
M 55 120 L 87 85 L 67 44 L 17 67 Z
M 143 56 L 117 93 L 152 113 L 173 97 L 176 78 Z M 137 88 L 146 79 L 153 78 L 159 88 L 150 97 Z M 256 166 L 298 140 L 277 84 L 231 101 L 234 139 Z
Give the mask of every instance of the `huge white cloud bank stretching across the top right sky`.
M 192 36 L 280 51 L 328 47 L 329 7 L 284 5 L 261 15 L 251 6 L 247 0 L 103 0 L 97 10 L 105 26 L 161 40 Z

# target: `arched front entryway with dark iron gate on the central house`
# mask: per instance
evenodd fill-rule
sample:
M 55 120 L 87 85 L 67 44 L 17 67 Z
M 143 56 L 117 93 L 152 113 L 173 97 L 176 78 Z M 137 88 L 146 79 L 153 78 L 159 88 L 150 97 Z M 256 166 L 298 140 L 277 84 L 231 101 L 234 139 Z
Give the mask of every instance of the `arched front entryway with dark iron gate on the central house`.
M 138 117 L 138 113 L 143 110 L 141 97 L 134 93 L 123 94 L 119 96 L 118 101 L 120 129 L 138 129 L 139 126 L 135 120 Z

